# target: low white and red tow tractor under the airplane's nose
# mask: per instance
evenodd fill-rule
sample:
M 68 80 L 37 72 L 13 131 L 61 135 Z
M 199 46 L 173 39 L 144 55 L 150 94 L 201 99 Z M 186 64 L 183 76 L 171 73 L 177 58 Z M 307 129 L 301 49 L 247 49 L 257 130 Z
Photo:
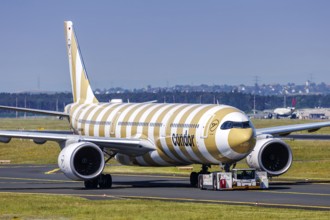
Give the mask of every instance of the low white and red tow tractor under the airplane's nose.
M 233 169 L 198 176 L 198 188 L 211 190 L 267 189 L 267 172 L 256 169 Z

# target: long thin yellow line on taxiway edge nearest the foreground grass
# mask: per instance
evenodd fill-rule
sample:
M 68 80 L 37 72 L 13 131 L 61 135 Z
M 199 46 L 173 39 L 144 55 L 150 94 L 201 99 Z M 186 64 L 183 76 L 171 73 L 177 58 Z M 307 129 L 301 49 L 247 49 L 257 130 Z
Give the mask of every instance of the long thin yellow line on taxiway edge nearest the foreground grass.
M 127 196 L 127 195 L 107 195 L 107 194 L 54 194 L 54 193 L 28 193 L 28 192 L 0 192 L 0 194 L 13 193 L 13 194 L 27 194 L 27 195 L 52 195 L 52 196 L 79 196 L 79 197 L 98 197 L 98 198 L 113 198 L 113 199 L 146 199 L 158 200 L 169 202 L 195 202 L 195 203 L 210 203 L 210 204 L 226 204 L 226 205 L 250 205 L 262 207 L 278 207 L 278 208 L 295 208 L 295 209 L 313 209 L 313 210 L 330 210 L 330 206 L 313 206 L 313 205 L 298 205 L 298 204 L 276 204 L 276 203 L 263 203 L 263 202 L 241 202 L 241 201 L 228 201 L 228 200 L 199 200 L 189 198 L 166 198 L 154 196 Z

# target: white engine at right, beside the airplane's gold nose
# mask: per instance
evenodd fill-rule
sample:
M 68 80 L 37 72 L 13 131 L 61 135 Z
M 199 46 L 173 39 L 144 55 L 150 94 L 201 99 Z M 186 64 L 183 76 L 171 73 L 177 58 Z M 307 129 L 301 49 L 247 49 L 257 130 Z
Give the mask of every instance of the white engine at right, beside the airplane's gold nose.
M 246 162 L 250 168 L 265 171 L 269 176 L 279 176 L 290 168 L 292 151 L 281 139 L 260 139 L 246 157 Z

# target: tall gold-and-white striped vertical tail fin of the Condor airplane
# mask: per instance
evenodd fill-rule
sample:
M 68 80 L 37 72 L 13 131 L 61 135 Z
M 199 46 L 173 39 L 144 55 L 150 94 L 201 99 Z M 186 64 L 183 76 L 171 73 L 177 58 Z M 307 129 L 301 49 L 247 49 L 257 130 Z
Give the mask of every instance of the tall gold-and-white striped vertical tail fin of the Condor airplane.
M 89 84 L 78 41 L 71 21 L 64 22 L 66 47 L 69 58 L 73 101 L 79 103 L 98 103 Z

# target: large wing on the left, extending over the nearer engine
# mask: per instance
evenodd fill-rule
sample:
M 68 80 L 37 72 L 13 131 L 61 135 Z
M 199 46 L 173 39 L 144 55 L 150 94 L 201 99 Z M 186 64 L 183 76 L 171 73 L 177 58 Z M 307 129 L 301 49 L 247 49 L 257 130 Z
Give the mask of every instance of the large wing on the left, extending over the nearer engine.
M 59 144 L 66 141 L 92 142 L 99 147 L 126 155 L 142 155 L 154 150 L 154 146 L 148 141 L 139 138 L 110 138 L 110 137 L 89 137 L 62 132 L 41 132 L 41 131 L 5 131 L 0 130 L 0 142 L 9 143 L 12 138 L 31 139 L 37 144 L 46 141 L 55 141 Z

